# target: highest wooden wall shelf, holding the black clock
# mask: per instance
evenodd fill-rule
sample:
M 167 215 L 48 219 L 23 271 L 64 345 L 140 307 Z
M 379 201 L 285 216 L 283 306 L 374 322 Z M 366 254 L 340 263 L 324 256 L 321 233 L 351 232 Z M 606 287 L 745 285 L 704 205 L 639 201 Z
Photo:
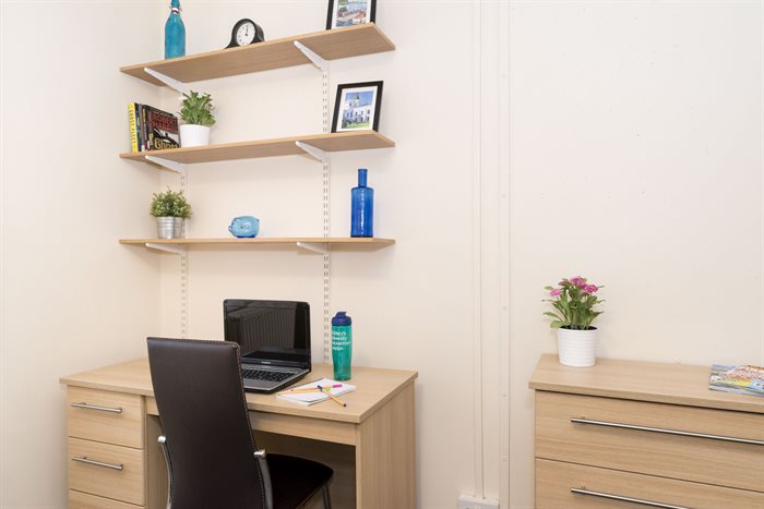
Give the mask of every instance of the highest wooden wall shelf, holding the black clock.
M 236 76 L 272 69 L 311 63 L 295 46 L 299 41 L 324 60 L 392 51 L 395 45 L 375 24 L 366 23 L 345 28 L 314 32 L 282 39 L 266 40 L 240 48 L 220 49 L 169 60 L 139 63 L 121 68 L 126 74 L 164 86 L 144 71 L 152 69 L 182 83 Z

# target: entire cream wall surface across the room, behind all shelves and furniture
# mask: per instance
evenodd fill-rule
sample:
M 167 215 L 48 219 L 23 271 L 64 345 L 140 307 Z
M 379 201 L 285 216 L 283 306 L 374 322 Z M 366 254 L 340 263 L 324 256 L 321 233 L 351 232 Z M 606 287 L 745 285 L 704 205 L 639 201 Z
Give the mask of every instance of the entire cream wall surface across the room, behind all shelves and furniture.
M 541 289 L 560 277 L 606 286 L 602 356 L 764 363 L 762 2 L 378 3 L 398 49 L 332 62 L 330 104 L 384 80 L 397 146 L 332 155 L 331 233 L 348 234 L 367 167 L 375 233 L 397 244 L 332 253 L 331 312 L 354 318 L 356 364 L 419 371 L 418 507 L 533 507 L 527 379 L 556 351 Z M 325 5 L 184 1 L 188 52 L 224 47 L 241 17 L 267 39 L 320 31 Z M 117 244 L 152 235 L 151 193 L 179 187 L 117 158 L 127 102 L 178 108 L 117 71 L 162 58 L 166 9 L 2 3 L 2 508 L 65 506 L 59 376 L 181 334 L 179 257 Z M 29 40 L 33 25 L 68 36 Z M 194 87 L 216 99 L 215 142 L 322 128 L 309 65 Z M 321 235 L 321 193 L 302 157 L 196 165 L 189 235 L 244 214 L 266 237 Z M 322 274 L 294 249 L 194 247 L 188 336 L 222 338 L 226 298 L 306 300 L 320 360 Z

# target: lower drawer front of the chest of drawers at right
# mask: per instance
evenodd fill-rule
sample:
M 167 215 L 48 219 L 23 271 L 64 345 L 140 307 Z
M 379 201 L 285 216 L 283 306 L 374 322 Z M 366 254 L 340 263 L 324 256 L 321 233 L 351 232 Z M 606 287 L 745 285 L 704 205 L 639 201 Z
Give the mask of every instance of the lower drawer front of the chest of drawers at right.
M 571 489 L 600 495 L 573 493 Z M 635 500 L 629 502 L 605 496 Z M 764 507 L 764 494 L 560 461 L 536 460 L 537 509 L 650 507 L 645 502 L 658 504 L 652 507 L 761 509 Z

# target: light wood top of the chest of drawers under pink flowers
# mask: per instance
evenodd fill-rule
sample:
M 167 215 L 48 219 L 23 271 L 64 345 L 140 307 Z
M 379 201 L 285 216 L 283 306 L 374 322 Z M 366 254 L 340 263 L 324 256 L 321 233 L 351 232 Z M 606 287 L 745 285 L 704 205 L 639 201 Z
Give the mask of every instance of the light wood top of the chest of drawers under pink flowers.
M 539 359 L 532 389 L 764 413 L 764 398 L 708 389 L 709 366 L 597 359 L 570 367 L 554 354 Z

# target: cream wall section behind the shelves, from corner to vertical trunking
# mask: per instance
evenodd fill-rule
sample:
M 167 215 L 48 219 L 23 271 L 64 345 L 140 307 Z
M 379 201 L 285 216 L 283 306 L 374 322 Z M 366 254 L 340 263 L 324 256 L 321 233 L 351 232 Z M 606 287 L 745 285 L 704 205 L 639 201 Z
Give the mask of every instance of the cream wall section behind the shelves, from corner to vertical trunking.
M 227 36 L 240 17 L 254 19 L 266 38 L 321 31 L 325 5 L 260 2 L 255 9 L 231 2 L 219 9 L 217 3 L 189 2 L 183 11 L 188 44 L 193 51 L 224 46 L 220 34 Z M 416 22 L 430 15 L 430 3 L 380 2 L 379 24 L 398 50 L 330 64 L 332 104 L 337 84 L 384 81 L 380 132 L 397 145 L 331 156 L 331 233 L 349 235 L 350 189 L 357 169 L 365 167 L 375 190 L 375 234 L 397 243 L 379 251 L 333 252 L 331 312 L 345 310 L 354 319 L 355 364 L 419 372 L 421 507 L 452 507 L 459 492 L 471 492 L 474 484 L 473 7 L 447 2 L 438 9 L 444 23 L 466 23 L 467 44 L 440 50 L 447 40 L 442 25 Z M 211 28 L 194 29 L 199 26 Z M 312 66 L 194 87 L 216 98 L 217 142 L 321 132 L 321 73 Z M 177 95 L 167 94 L 163 104 L 177 109 Z M 296 156 L 196 165 L 188 174 L 194 237 L 227 237 L 230 218 L 243 214 L 261 219 L 262 235 L 322 234 L 321 165 L 313 160 Z M 164 177 L 169 185 L 179 185 L 176 175 Z M 307 300 L 313 353 L 321 360 L 321 255 L 294 247 L 193 249 L 188 263 L 189 337 L 223 337 L 226 298 Z M 180 331 L 179 290 L 179 260 L 164 256 L 163 300 L 177 304 L 166 306 L 162 316 L 167 335 Z M 466 383 L 453 384 L 454 374 L 465 369 Z

